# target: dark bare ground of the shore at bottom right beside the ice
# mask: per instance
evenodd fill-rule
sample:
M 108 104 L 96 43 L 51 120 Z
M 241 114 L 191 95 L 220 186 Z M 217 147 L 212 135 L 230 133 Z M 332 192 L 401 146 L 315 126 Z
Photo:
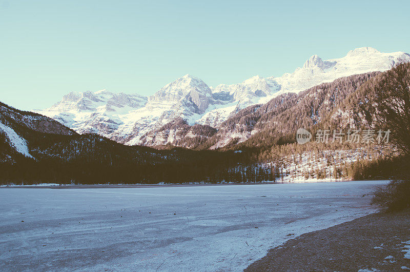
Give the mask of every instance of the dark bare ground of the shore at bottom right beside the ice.
M 409 240 L 410 209 L 379 212 L 289 240 L 245 271 L 403 271 Z

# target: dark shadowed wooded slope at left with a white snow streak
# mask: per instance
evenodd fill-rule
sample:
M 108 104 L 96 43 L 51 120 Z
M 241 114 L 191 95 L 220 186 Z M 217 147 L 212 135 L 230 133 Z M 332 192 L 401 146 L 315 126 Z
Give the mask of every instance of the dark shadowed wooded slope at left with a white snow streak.
M 242 168 L 249 164 L 233 151 L 127 146 L 97 134 L 78 134 L 37 113 L 0 105 L 0 185 L 220 182 L 233 180 L 239 164 Z M 255 165 L 246 167 L 255 172 Z

